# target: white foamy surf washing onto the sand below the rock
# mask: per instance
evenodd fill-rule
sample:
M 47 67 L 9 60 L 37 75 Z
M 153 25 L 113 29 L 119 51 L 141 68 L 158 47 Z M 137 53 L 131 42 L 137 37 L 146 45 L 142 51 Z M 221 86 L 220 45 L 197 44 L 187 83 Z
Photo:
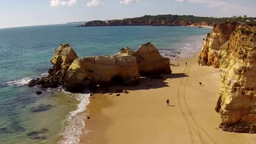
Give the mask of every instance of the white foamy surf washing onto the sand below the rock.
M 78 144 L 80 135 L 85 127 L 84 118 L 86 117 L 86 106 L 90 103 L 90 94 L 74 94 L 75 98 L 80 101 L 77 110 L 69 113 L 67 125 L 63 133 L 62 144 Z

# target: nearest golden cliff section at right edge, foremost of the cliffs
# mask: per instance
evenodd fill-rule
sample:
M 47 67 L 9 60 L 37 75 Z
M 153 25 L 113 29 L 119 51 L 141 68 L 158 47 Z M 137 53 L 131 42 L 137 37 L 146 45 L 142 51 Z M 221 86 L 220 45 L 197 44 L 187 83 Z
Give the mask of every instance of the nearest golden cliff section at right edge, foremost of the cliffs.
M 256 133 L 256 26 L 239 25 L 221 47 L 222 71 L 216 111 L 220 128 Z

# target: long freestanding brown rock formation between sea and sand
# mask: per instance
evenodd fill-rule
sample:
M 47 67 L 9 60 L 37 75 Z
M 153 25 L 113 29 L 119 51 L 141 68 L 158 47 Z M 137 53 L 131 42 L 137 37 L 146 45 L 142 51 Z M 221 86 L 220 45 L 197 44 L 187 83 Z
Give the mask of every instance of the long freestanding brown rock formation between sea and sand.
M 29 86 L 61 85 L 66 91 L 78 92 L 112 83 L 135 86 L 139 84 L 141 74 L 171 74 L 170 59 L 163 58 L 151 43 L 141 45 L 136 51 L 126 47 L 114 56 L 84 58 L 78 58 L 69 44 L 62 44 L 55 50 L 51 63 L 50 76 L 32 80 Z

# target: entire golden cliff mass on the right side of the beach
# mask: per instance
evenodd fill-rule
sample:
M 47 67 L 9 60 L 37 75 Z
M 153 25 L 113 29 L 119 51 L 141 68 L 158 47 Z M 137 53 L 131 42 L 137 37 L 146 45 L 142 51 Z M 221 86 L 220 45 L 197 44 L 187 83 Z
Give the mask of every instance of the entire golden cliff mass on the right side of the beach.
M 203 44 L 199 64 L 214 65 L 222 72 L 215 108 L 222 118 L 220 128 L 256 133 L 256 26 L 214 26 Z

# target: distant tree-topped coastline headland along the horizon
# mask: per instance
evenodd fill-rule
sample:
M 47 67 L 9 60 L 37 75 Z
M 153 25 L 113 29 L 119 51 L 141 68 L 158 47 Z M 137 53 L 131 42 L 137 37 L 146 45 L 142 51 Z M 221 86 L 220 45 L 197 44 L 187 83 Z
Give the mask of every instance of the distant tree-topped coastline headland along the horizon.
M 95 26 L 213 26 L 222 22 L 255 23 L 255 17 L 200 17 L 193 15 L 145 15 L 123 20 L 89 21 L 77 27 Z

